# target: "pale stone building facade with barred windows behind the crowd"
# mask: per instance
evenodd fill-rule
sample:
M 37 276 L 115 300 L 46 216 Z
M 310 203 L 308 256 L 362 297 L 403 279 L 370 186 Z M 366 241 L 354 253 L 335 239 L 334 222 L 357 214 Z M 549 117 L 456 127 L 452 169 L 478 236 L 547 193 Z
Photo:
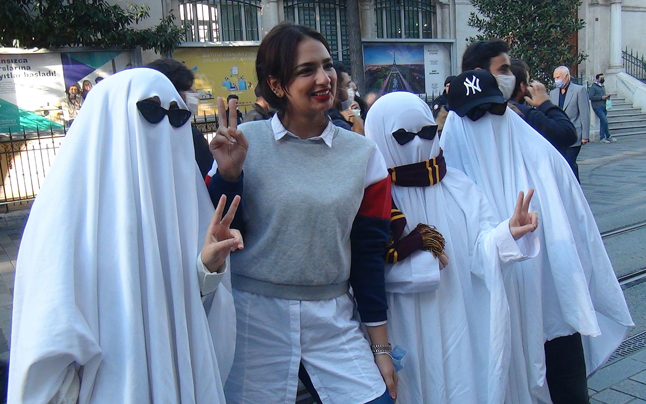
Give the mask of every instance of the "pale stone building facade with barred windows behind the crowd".
M 476 34 L 467 24 L 475 12 L 470 0 L 111 1 L 121 6 L 149 5 L 151 18 L 143 21 L 144 27 L 173 10 L 178 23 L 189 26 L 187 42 L 211 43 L 214 47 L 222 42 L 260 41 L 271 27 L 289 19 L 322 32 L 335 59 L 348 64 L 353 58 L 360 59 L 356 54 L 360 44 L 353 47 L 357 41 L 353 38 L 453 39 L 459 60 L 466 39 Z M 579 17 L 585 21 L 585 28 L 578 34 L 578 47 L 588 55 L 578 67 L 579 76 L 594 80 L 595 74 L 603 72 L 612 87 L 612 75 L 622 70 L 621 50 L 646 52 L 642 41 L 646 0 L 583 0 Z

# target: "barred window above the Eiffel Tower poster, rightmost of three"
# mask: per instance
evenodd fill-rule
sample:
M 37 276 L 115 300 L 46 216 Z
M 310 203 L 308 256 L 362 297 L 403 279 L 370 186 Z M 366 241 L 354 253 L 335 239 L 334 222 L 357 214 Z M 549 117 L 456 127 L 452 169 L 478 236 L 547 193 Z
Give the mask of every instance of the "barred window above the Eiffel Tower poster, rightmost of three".
M 433 37 L 432 0 L 375 0 L 378 38 Z

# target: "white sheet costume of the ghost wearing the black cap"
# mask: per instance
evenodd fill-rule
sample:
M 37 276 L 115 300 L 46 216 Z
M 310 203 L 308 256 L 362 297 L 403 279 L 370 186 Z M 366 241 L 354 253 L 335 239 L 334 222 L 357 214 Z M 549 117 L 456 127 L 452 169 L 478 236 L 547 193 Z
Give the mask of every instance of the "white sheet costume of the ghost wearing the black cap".
M 481 187 L 498 218 L 519 191 L 536 189 L 541 252 L 505 273 L 513 348 L 505 402 L 551 403 L 545 341 L 579 332 L 590 374 L 633 325 L 590 207 L 563 156 L 509 109 L 476 122 L 450 112 L 440 144 L 447 164 Z

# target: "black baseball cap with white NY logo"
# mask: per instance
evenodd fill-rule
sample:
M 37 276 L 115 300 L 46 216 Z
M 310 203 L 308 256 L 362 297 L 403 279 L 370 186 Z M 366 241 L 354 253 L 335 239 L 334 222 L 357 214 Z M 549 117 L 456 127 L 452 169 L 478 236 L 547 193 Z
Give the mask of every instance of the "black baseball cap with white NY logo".
M 483 104 L 506 106 L 503 93 L 498 89 L 498 82 L 490 72 L 466 70 L 451 81 L 451 87 L 448 89 L 448 105 L 451 106 L 451 111 L 463 117 Z M 489 107 L 490 105 L 487 105 L 486 109 L 490 109 Z

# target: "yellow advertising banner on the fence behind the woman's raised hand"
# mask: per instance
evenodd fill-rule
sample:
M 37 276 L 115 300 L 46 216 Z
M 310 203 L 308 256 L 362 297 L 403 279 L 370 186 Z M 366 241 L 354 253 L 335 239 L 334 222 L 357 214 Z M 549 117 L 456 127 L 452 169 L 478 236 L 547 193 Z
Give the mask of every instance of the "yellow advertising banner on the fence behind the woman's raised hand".
M 238 109 L 245 112 L 256 102 L 257 46 L 182 47 L 172 57 L 182 61 L 195 74 L 195 89 L 200 94 L 198 115 L 217 114 L 216 100 L 229 94 L 238 96 Z

